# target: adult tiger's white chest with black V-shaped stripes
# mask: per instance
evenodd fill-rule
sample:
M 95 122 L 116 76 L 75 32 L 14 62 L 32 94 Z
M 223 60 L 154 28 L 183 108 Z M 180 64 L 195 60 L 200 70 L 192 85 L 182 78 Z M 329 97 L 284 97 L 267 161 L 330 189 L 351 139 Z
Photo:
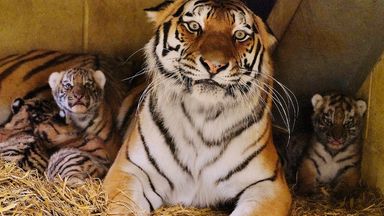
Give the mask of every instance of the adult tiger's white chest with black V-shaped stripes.
M 165 109 L 150 100 L 140 115 L 140 140 L 129 154 L 156 179 L 154 188 L 164 202 L 215 205 L 273 175 L 258 157 L 269 119 L 244 121 L 246 111 L 197 115 L 182 103 Z

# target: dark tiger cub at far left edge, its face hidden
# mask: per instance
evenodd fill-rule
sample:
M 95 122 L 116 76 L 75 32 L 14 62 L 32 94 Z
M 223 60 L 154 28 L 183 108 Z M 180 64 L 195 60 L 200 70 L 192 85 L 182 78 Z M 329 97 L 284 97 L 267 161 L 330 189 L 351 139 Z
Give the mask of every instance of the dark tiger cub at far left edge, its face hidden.
M 0 129 L 0 158 L 24 170 L 43 173 L 48 166 L 48 153 L 44 141 L 33 131 L 35 125 L 53 118 L 58 109 L 51 101 L 18 98 L 11 111 L 10 121 Z

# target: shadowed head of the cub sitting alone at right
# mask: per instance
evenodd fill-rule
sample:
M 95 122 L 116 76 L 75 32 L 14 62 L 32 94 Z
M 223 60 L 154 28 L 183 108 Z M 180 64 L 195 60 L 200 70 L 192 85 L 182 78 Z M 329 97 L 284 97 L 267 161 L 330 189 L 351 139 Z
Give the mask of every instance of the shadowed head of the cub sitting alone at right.
M 337 151 L 360 138 L 363 115 L 367 105 L 363 100 L 330 94 L 312 97 L 313 127 L 318 140 L 327 148 Z

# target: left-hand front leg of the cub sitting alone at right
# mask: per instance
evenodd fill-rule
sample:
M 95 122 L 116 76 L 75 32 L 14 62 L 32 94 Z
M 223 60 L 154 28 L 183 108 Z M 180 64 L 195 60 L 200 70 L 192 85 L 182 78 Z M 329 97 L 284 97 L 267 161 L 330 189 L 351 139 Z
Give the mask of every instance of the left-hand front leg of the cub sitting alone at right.
M 298 193 L 307 195 L 317 190 L 317 168 L 315 162 L 305 158 L 299 167 Z

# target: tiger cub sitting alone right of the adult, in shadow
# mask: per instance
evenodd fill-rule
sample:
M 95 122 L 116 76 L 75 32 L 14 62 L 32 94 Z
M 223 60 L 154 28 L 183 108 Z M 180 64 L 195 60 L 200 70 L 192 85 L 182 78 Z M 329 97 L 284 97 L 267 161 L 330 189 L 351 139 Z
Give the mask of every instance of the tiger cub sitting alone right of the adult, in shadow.
M 334 197 L 349 195 L 360 179 L 367 104 L 340 94 L 315 94 L 312 105 L 314 134 L 299 166 L 298 192 L 326 186 Z

